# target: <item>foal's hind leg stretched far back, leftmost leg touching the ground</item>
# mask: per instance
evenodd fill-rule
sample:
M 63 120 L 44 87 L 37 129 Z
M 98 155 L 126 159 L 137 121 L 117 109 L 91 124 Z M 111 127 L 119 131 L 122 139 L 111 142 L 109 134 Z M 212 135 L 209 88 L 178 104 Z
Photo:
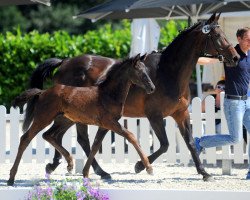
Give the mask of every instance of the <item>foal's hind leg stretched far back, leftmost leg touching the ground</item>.
M 14 184 L 14 180 L 15 180 L 15 176 L 16 176 L 16 173 L 17 173 L 17 169 L 18 169 L 20 160 L 22 158 L 24 150 L 27 148 L 30 141 L 39 133 L 39 131 L 41 131 L 46 126 L 48 126 L 50 124 L 50 122 L 46 123 L 44 121 L 34 120 L 31 127 L 30 127 L 30 129 L 26 133 L 24 133 L 22 135 L 22 137 L 20 139 L 20 144 L 19 144 L 19 147 L 18 147 L 18 152 L 17 152 L 15 162 L 14 162 L 14 164 L 13 164 L 11 170 L 10 170 L 10 177 L 9 177 L 9 180 L 7 181 L 7 185 L 13 185 Z

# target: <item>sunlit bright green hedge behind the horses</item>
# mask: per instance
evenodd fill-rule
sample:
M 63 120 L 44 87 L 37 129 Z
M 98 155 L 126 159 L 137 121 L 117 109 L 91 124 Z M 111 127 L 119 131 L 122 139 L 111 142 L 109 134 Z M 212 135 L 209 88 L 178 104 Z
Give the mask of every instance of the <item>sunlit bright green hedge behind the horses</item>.
M 171 42 L 178 29 L 183 29 L 183 24 L 170 22 L 163 26 L 159 47 Z M 14 33 L 0 34 L 0 105 L 9 108 L 11 100 L 28 87 L 36 65 L 47 58 L 85 53 L 124 58 L 129 54 L 130 42 L 130 22 L 127 20 L 122 21 L 119 27 L 106 24 L 84 35 L 71 36 L 62 31 L 22 34 L 19 29 Z

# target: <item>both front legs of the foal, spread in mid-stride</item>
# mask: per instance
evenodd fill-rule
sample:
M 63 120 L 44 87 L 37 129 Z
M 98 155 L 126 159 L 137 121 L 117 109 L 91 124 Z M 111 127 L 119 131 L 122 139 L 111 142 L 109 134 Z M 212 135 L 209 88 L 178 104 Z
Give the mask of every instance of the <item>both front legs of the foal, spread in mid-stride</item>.
M 131 132 L 129 132 L 127 129 L 122 127 L 117 121 L 112 122 L 111 120 L 108 121 L 108 119 L 107 119 L 107 121 L 102 122 L 102 123 L 105 125 L 105 128 L 110 129 L 110 130 L 118 133 L 119 135 L 125 137 L 131 144 L 133 144 L 133 146 L 135 147 L 136 151 L 138 152 L 143 164 L 145 165 L 148 174 L 152 174 L 153 168 L 150 165 L 147 156 L 141 150 L 141 147 L 140 147 L 139 143 L 137 142 L 135 136 Z M 102 140 L 102 139 L 103 139 L 103 136 L 101 136 L 100 133 L 97 133 L 94 144 L 92 146 L 92 150 L 90 152 L 88 160 L 87 160 L 85 167 L 83 169 L 83 176 L 84 177 L 88 177 L 90 164 L 91 164 L 92 159 L 95 156 L 97 150 L 99 149 L 98 148 L 98 145 L 100 145 L 99 140 Z

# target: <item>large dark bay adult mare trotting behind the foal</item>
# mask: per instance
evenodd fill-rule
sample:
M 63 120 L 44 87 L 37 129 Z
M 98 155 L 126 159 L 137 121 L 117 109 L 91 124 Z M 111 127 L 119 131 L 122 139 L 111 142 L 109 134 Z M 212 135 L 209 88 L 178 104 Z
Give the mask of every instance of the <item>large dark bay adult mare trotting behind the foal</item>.
M 143 62 L 156 85 L 156 91 L 147 95 L 142 89 L 132 86 L 123 113 L 128 117 L 148 118 L 160 141 L 160 148 L 148 157 L 150 163 L 153 163 L 168 149 L 169 142 L 163 118 L 172 116 L 191 152 L 197 171 L 202 174 L 204 180 L 209 180 L 210 175 L 200 162 L 191 134 L 190 116 L 187 110 L 190 101 L 189 80 L 200 56 L 223 57 L 224 61 L 232 66 L 235 66 L 239 57 L 218 25 L 218 19 L 219 15 L 212 15 L 206 22 L 197 23 L 181 32 L 163 52 L 147 55 Z M 92 55 L 82 55 L 66 60 L 48 59 L 34 71 L 31 77 L 31 87 L 42 88 L 44 79 L 58 67 L 53 77 L 56 83 L 72 86 L 93 85 L 97 78 L 104 75 L 115 62 L 117 61 L 111 58 Z M 62 115 L 58 116 L 46 134 L 53 135 L 58 144 L 61 144 L 63 134 L 73 124 L 74 122 Z M 77 123 L 76 127 L 77 140 L 88 156 L 90 145 L 87 126 Z M 103 132 L 101 135 L 104 135 Z M 52 172 L 58 166 L 60 158 L 61 155 L 56 152 L 53 163 L 46 167 L 47 172 Z M 110 175 L 101 169 L 95 159 L 92 166 L 102 178 L 110 178 Z M 135 171 L 140 172 L 143 169 L 143 163 L 137 162 Z

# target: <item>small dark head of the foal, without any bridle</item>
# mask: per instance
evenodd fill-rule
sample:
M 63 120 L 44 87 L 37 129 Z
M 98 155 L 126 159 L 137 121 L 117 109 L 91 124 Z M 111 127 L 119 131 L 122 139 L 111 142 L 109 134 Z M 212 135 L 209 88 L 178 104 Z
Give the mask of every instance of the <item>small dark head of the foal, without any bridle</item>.
M 127 74 L 131 82 L 145 89 L 146 92 L 150 94 L 155 91 L 155 85 L 147 73 L 147 68 L 142 62 L 143 60 L 144 56 L 140 57 L 140 54 L 138 54 L 137 56 L 130 58 L 128 61 L 125 61 L 124 64 L 130 65 Z

